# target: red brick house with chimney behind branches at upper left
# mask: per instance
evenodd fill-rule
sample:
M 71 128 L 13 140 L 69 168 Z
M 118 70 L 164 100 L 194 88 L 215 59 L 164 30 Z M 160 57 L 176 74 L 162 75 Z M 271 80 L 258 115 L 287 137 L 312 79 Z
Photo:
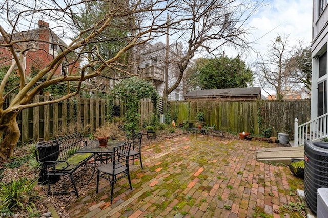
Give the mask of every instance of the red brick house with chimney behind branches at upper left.
M 49 23 L 42 20 L 38 21 L 38 28 L 14 34 L 12 38 L 13 40 L 26 41 L 19 43 L 19 46 L 21 46 L 19 49 L 26 49 L 25 54 L 21 56 L 23 66 L 25 67 L 25 75 L 29 75 L 32 68 L 42 69 L 45 67 L 59 54 L 61 51 L 60 45 L 67 46 L 64 41 L 49 28 Z M 0 38 L 0 43 L 5 44 L 6 42 L 3 38 Z M 14 46 L 15 49 L 18 49 L 17 46 Z M 13 56 L 9 49 L 0 47 L 0 67 L 11 65 L 12 62 Z M 67 62 L 63 61 L 62 67 L 56 70 L 56 74 L 63 74 L 63 70 L 68 72 L 69 68 L 64 66 L 66 63 Z M 73 73 L 77 72 L 78 68 L 79 63 L 76 63 Z

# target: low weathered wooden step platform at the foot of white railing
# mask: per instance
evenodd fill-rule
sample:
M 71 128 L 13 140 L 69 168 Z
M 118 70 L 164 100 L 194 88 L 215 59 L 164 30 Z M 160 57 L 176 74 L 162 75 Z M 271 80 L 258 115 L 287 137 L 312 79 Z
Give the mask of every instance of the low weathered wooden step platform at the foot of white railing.
M 304 159 L 304 146 L 262 148 L 257 151 L 256 160 L 289 164 L 292 158 Z

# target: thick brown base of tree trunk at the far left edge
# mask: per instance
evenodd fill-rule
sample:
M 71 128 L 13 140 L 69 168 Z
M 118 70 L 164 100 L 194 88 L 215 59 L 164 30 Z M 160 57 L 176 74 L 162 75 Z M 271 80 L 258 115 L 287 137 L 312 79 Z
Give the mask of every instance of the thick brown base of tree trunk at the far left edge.
M 16 122 L 18 112 L 1 114 L 0 136 L 5 135 L 0 143 L 0 160 L 5 160 L 14 156 L 14 150 L 20 137 L 20 130 Z

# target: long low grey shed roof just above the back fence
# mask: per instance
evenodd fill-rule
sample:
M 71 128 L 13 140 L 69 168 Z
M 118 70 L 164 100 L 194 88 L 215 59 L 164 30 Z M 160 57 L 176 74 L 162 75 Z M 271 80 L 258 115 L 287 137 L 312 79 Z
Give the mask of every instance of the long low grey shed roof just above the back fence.
M 261 98 L 261 88 L 259 87 L 193 90 L 185 95 L 185 99 L 188 101 L 240 101 Z

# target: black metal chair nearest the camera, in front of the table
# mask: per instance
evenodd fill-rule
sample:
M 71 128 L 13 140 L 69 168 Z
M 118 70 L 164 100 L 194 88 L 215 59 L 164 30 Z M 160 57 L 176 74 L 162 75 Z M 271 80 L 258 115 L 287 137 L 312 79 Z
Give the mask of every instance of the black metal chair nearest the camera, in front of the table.
M 128 176 L 130 189 L 132 190 L 130 172 L 129 172 L 129 157 L 126 154 L 130 153 L 131 142 L 115 146 L 113 148 L 112 162 L 100 166 L 97 169 L 97 189 L 99 188 L 99 178 L 104 178 L 111 184 L 111 203 L 113 203 L 114 184 L 117 180 Z

